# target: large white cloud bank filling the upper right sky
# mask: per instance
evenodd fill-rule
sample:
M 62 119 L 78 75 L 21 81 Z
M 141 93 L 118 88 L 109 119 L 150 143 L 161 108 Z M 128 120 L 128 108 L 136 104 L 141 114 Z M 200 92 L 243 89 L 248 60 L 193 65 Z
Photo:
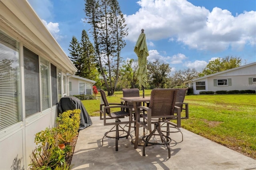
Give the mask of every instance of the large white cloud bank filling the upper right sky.
M 215 7 L 210 12 L 185 0 L 141 0 L 138 12 L 126 16 L 127 40 L 135 42 L 143 28 L 150 41 L 168 39 L 192 49 L 224 51 L 242 50 L 256 43 L 256 12 L 232 16 Z

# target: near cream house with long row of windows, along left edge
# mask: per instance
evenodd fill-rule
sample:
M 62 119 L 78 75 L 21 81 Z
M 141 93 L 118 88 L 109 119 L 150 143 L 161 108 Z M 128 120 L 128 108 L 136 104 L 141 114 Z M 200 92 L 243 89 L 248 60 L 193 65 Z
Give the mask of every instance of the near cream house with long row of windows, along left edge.
M 27 169 L 77 69 L 27 0 L 0 0 L 0 169 Z

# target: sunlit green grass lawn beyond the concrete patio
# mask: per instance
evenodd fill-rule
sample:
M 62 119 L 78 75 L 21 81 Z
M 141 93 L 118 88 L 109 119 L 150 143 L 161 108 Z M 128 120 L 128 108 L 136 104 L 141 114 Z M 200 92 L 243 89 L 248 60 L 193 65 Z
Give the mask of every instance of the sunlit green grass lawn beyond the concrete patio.
M 151 90 L 145 90 L 145 96 Z M 142 95 L 142 91 L 140 91 Z M 90 116 L 99 116 L 98 100 L 84 100 Z M 120 103 L 122 91 L 107 96 L 109 103 Z M 182 127 L 214 142 L 256 159 L 256 94 L 188 95 L 189 119 Z

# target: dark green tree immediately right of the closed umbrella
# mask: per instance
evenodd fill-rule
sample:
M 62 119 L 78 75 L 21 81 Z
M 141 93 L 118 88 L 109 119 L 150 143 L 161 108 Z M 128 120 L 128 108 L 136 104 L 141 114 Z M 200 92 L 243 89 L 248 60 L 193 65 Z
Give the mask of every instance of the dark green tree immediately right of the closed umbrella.
M 166 82 L 170 77 L 169 64 L 160 64 L 158 60 L 148 63 L 148 83 L 156 88 L 166 88 Z

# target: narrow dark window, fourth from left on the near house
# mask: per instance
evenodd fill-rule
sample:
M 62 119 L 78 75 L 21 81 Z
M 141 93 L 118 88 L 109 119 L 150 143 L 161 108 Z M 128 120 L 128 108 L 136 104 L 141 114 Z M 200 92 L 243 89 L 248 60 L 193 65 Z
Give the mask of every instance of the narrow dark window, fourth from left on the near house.
M 58 93 L 57 93 L 57 68 L 51 64 L 51 87 L 52 87 L 52 106 L 58 104 Z

